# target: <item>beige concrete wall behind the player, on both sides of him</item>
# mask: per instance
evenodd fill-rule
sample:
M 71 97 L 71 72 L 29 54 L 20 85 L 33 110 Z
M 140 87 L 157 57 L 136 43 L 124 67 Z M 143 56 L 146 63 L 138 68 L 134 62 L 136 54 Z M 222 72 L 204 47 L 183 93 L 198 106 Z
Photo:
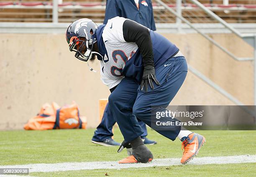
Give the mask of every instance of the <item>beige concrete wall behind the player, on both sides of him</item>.
M 245 104 L 253 104 L 252 62 L 236 62 L 197 34 L 165 35 L 180 47 L 187 61 Z M 233 35 L 213 35 L 238 56 L 252 56 L 252 47 Z M 45 102 L 75 100 L 88 127 L 99 122 L 98 100 L 108 88 L 100 73 L 69 52 L 64 35 L 0 34 L 0 130 L 21 129 Z M 94 69 L 98 70 L 96 61 Z M 192 73 L 172 105 L 233 105 Z

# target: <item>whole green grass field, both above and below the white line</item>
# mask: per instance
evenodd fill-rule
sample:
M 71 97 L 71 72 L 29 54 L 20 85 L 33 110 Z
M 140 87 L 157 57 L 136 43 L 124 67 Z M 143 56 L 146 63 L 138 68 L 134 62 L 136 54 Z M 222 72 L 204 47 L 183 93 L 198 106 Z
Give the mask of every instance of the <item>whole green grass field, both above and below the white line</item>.
M 90 142 L 94 130 L 1 131 L 0 165 L 34 163 L 118 161 L 126 151 L 118 147 L 102 147 Z M 198 131 L 207 142 L 197 157 L 256 155 L 256 131 Z M 181 142 L 174 142 L 148 129 L 148 138 L 157 145 L 148 146 L 154 158 L 181 157 Z M 123 140 L 118 128 L 114 139 Z M 65 172 L 34 172 L 30 176 L 255 176 L 256 163 L 219 165 L 178 165 L 166 167 L 128 168 L 113 170 L 77 170 Z

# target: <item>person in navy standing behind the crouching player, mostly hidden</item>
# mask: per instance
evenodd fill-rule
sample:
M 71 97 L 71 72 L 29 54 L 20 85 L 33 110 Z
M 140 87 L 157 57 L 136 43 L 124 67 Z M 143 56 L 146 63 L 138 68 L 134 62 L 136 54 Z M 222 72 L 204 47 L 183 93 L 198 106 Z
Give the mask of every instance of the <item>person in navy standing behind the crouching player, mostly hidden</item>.
M 113 17 L 125 17 L 130 20 L 136 21 L 143 26 L 155 31 L 156 25 L 154 21 L 154 13 L 151 0 L 107 0 L 104 24 Z M 95 130 L 91 142 L 103 146 L 120 145 L 115 142 L 111 137 L 113 136 L 112 128 L 115 125 L 115 118 L 107 104 L 104 115 Z M 138 119 L 139 125 L 143 130 L 141 139 L 144 144 L 154 145 L 156 141 L 148 140 L 146 124 Z

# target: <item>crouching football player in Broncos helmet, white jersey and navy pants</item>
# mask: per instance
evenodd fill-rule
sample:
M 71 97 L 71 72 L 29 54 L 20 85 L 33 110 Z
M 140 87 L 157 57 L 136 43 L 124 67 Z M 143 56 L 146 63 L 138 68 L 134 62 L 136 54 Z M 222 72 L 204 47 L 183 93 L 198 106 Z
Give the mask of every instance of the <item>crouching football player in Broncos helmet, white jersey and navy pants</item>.
M 88 61 L 100 61 L 101 80 L 111 91 L 110 109 L 124 137 L 120 149 L 128 144 L 132 147 L 131 156 L 119 163 L 153 160 L 141 140 L 143 131 L 136 117 L 170 140 L 182 141 L 182 164 L 197 155 L 205 137 L 181 130 L 181 126 L 156 126 L 156 114 L 166 112 L 187 75 L 187 62 L 176 45 L 123 17 L 114 17 L 99 27 L 90 19 L 79 19 L 69 25 L 66 39 L 77 59 L 88 66 Z M 160 115 L 162 121 L 178 121 Z

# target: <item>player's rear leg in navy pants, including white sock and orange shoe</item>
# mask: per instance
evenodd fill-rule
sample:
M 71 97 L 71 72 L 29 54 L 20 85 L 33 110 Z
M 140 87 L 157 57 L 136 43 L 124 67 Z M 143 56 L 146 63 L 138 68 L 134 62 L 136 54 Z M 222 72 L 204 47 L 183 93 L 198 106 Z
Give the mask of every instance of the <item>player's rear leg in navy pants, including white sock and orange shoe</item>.
M 166 67 L 170 67 L 170 69 L 167 70 Z M 156 122 L 178 121 L 165 114 L 167 111 L 166 107 L 177 94 L 186 75 L 187 62 L 184 60 L 184 57 L 175 57 L 166 61 L 164 65 L 156 69 L 156 78 L 161 85 L 156 86 L 154 90 L 149 89 L 147 93 L 139 91 L 133 106 L 133 114 L 161 135 L 170 140 L 175 140 L 179 136 L 179 139 L 182 140 L 182 148 L 184 149 L 181 159 L 182 164 L 189 162 L 189 160 L 192 160 L 197 155 L 205 142 L 205 137 L 188 130 L 181 130 L 181 126 L 158 127 Z M 156 119 L 156 114 L 161 115 L 161 117 Z

